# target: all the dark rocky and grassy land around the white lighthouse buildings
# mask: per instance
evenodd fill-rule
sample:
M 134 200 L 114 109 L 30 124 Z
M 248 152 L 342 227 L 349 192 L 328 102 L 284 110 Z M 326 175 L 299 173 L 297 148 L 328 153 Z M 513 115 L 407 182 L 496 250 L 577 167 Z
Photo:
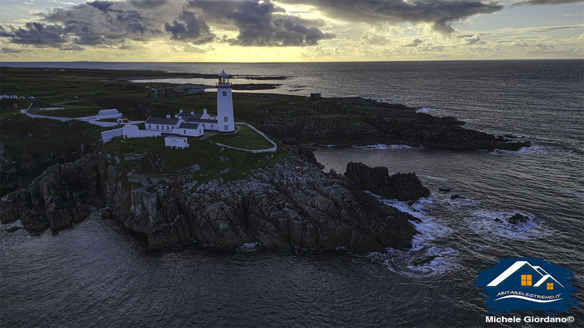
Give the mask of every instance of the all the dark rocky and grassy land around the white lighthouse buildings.
M 208 93 L 152 99 L 146 96 L 147 85 L 104 81 L 107 74 L 152 72 L 79 69 L 62 75 L 2 68 L 0 73 L 2 88 L 14 92 L 25 92 L 15 81 L 29 78 L 26 88 L 37 90 L 35 103 L 76 102 L 61 111 L 68 117 L 117 108 L 131 120 L 146 120 L 217 103 L 217 96 Z M 76 74 L 86 83 L 71 86 L 69 78 Z M 58 95 L 52 92 L 55 87 Z M 101 210 L 103 217 L 147 238 L 151 249 L 195 241 L 219 247 L 257 242 L 280 249 L 401 249 L 412 245 L 415 218 L 364 190 L 404 201 L 429 196 L 415 173 L 390 176 L 387 168 L 363 163 L 349 163 L 344 176 L 326 173 L 305 144 L 407 144 L 460 151 L 529 146 L 465 129 L 452 117 L 361 98 L 244 93 L 234 95 L 233 102 L 235 118 L 272 137 L 276 152 L 239 152 L 219 146 L 213 136 L 193 138 L 186 149 L 165 148 L 161 138 L 103 143 L 99 136 L 105 128 L 32 118 L 13 106 L 33 107 L 30 101 L 2 99 L 2 222 L 20 220 L 29 231 L 58 231 Z M 241 144 L 241 139 L 232 141 Z

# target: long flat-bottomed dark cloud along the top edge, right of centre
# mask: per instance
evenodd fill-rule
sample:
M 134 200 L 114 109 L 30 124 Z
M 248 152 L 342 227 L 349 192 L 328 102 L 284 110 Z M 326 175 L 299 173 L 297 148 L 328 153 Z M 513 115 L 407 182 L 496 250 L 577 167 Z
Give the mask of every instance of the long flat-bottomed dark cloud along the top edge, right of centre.
M 502 5 L 475 0 L 285 0 L 312 5 L 331 18 L 369 23 L 430 23 L 437 32 L 454 32 L 452 24 L 473 15 L 498 12 Z

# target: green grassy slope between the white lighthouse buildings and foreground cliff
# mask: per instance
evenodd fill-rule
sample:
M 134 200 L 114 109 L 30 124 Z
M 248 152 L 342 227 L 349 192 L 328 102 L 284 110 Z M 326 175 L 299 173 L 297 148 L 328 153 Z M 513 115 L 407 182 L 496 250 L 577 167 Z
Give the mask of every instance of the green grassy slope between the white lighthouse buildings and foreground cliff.
M 220 146 L 207 139 L 190 139 L 190 146 L 186 149 L 166 148 L 164 138 L 131 138 L 124 141 L 116 138 L 107 143 L 105 150 L 115 153 L 119 158 L 123 158 L 124 153 L 146 153 L 147 156 L 120 162 L 116 169 L 123 173 L 123 179 L 126 179 L 127 172 L 140 167 L 143 173 L 151 175 L 186 174 L 195 175 L 192 180 L 199 183 L 213 179 L 227 182 L 244 179 L 253 169 L 272 166 L 276 159 L 287 154 L 283 144 L 279 144 L 278 151 L 273 153 L 247 153 L 229 148 L 221 151 Z M 194 173 L 172 173 L 194 164 L 199 165 L 201 170 Z M 224 172 L 226 169 L 227 172 Z M 126 184 L 127 180 L 123 183 Z

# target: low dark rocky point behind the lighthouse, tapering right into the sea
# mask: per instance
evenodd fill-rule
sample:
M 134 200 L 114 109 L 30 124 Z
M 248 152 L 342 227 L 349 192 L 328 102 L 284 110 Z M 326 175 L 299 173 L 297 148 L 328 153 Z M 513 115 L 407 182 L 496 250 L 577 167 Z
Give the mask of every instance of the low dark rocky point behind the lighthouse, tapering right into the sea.
M 406 144 L 458 151 L 516 151 L 529 146 L 528 142 L 510 142 L 504 137 L 463 128 L 464 122 L 454 117 L 416 113 L 402 104 L 361 98 L 317 100 L 311 107 L 290 107 L 287 111 L 294 115 L 264 113 L 248 120 L 255 121 L 259 130 L 272 137 L 294 138 L 305 144 Z

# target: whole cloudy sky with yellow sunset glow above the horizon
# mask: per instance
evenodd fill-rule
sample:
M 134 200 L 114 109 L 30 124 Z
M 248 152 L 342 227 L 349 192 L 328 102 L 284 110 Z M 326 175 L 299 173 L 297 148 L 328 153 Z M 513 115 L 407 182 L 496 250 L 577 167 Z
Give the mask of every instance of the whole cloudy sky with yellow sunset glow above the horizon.
M 1 61 L 584 58 L 582 0 L 2 0 Z

